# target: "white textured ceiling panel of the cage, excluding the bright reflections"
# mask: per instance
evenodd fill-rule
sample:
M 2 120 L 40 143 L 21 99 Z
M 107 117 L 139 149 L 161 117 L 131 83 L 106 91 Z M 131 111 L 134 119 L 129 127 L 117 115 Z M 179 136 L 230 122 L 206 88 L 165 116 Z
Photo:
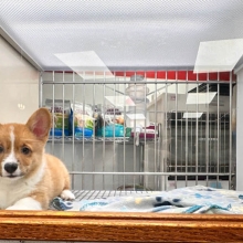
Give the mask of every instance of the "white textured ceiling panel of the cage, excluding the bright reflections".
M 1 0 L 0 25 L 42 70 L 93 51 L 108 68 L 194 66 L 200 42 L 242 39 L 242 0 Z

